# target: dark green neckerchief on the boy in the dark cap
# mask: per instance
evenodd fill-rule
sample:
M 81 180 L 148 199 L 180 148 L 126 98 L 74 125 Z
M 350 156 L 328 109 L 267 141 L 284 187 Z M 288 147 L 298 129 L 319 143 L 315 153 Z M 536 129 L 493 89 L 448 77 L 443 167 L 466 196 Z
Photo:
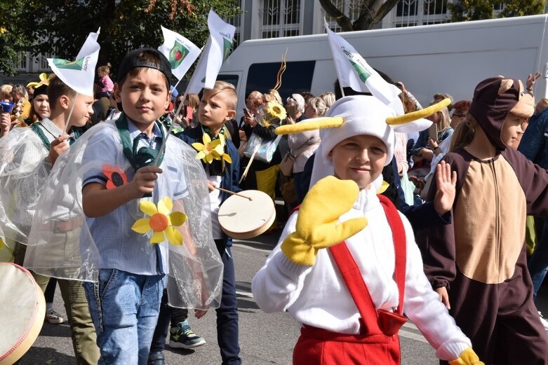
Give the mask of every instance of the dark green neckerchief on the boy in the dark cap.
M 162 125 L 159 121 L 155 122 L 161 132 L 161 142 L 163 144 L 163 139 L 166 138 L 163 132 Z M 123 156 L 126 156 L 129 163 L 135 169 L 139 170 L 141 167 L 149 166 L 154 163 L 156 157 L 158 157 L 158 151 L 156 149 L 150 149 L 148 147 L 142 146 L 139 151 L 137 151 L 137 146 L 139 144 L 139 138 L 133 139 L 133 146 L 131 143 L 131 137 L 129 136 L 128 130 L 128 120 L 125 113 L 121 113 L 120 117 L 116 120 L 116 128 L 118 128 L 118 133 L 120 135 L 120 141 L 123 147 Z M 159 157 L 158 165 L 161 165 L 163 160 L 163 154 Z

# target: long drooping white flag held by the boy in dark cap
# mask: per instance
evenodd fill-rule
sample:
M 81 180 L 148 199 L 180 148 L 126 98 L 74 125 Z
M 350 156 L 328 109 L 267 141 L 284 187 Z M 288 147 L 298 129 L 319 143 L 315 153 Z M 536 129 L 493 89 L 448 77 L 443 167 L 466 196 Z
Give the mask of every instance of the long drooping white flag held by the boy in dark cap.
M 198 64 L 187 86 L 187 94 L 200 92 L 202 88 L 213 89 L 222 62 L 232 49 L 236 27 L 219 18 L 214 11 L 208 15 L 209 38 L 203 48 Z

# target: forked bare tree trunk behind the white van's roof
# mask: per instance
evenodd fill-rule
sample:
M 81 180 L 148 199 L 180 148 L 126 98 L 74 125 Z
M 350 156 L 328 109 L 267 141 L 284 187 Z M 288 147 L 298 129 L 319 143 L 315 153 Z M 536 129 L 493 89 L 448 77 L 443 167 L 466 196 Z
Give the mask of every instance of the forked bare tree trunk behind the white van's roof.
M 356 1 L 350 1 L 350 3 L 352 2 L 355 3 Z M 373 29 L 398 2 L 399 0 L 361 0 L 359 1 L 359 17 L 352 22 L 340 8 L 343 5 L 337 6 L 333 1 L 320 0 L 323 10 L 337 21 L 337 24 L 342 28 L 342 32 Z

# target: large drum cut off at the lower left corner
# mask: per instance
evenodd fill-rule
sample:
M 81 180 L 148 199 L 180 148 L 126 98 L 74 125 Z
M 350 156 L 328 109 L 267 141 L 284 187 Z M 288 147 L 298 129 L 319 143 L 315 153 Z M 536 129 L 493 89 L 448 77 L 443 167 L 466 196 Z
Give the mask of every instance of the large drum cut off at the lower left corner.
M 0 364 L 18 361 L 44 324 L 46 301 L 29 270 L 0 263 Z

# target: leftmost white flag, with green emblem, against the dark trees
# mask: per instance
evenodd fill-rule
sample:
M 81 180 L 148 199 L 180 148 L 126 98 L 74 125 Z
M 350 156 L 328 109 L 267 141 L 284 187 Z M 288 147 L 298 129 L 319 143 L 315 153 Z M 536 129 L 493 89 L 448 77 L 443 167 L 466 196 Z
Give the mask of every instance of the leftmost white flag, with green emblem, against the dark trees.
M 97 43 L 99 32 L 90 33 L 88 39 L 76 56 L 76 60 L 62 60 L 60 58 L 48 58 L 48 64 L 55 75 L 66 83 L 69 88 L 79 94 L 93 97 L 93 80 L 95 78 L 95 65 L 99 58 L 100 46 Z

